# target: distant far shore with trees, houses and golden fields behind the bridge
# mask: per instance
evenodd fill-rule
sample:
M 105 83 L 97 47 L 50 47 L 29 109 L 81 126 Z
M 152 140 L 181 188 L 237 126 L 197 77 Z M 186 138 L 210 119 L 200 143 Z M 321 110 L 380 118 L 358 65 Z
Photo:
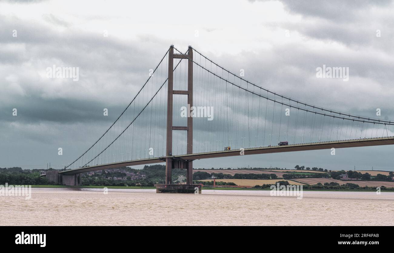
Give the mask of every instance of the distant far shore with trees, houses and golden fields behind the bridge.
M 53 168 L 49 168 L 54 170 Z M 20 167 L 0 168 L 0 184 L 56 185 L 48 181 L 45 170 L 23 170 Z M 82 186 L 154 187 L 164 183 L 164 165 L 146 165 L 142 169 L 121 167 L 98 170 L 82 175 Z M 175 184 L 186 182 L 186 170 L 173 169 Z M 364 189 L 376 187 L 394 189 L 394 174 L 387 171 L 327 170 L 296 165 L 286 168 L 195 168 L 193 182 L 202 187 L 268 188 L 277 182 L 284 185 L 304 185 L 311 189 Z

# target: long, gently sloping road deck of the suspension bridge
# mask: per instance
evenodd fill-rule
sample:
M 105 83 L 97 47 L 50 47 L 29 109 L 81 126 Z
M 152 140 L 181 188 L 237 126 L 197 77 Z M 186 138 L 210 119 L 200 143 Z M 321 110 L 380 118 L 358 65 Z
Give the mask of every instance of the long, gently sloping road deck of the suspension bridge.
M 327 142 L 312 142 L 303 144 L 291 144 L 286 146 L 271 146 L 271 147 L 258 147 L 258 148 L 245 148 L 245 155 L 266 154 L 266 153 L 281 153 L 292 151 L 306 151 L 306 150 L 323 150 L 331 148 L 352 148 L 352 147 L 366 147 L 366 146 L 381 146 L 394 144 L 394 137 L 379 137 L 368 139 L 353 139 L 353 140 L 338 140 Z M 217 158 L 226 156 L 240 155 L 240 150 L 226 150 L 226 151 L 213 151 L 204 153 L 194 153 L 185 155 L 174 155 L 174 158 L 184 160 L 197 160 L 206 158 Z M 71 170 L 64 170 L 59 173 L 64 175 L 74 175 L 84 172 L 91 172 L 95 170 L 104 170 L 111 168 L 119 168 L 122 166 L 133 166 L 141 164 L 164 163 L 165 157 L 145 158 L 132 161 L 123 161 L 117 163 L 100 164 L 95 166 L 76 168 Z

